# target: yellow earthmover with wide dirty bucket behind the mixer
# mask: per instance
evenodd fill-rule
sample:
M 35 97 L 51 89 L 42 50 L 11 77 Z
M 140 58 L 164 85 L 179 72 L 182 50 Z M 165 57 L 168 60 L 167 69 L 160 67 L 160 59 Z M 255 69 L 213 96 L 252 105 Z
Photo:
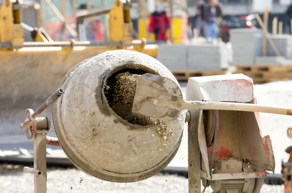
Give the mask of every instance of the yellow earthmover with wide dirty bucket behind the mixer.
M 14 115 L 14 119 L 18 119 L 18 110 L 25 110 L 27 104 L 40 105 L 67 71 L 87 58 L 122 49 L 157 56 L 157 45 L 146 44 L 144 38 L 132 39 L 130 0 L 116 0 L 110 10 L 77 18 L 80 27 L 86 18 L 109 14 L 110 40 L 107 42 L 53 41 L 44 29 L 21 22 L 18 0 L 0 2 L 0 130 L 10 129 L 7 116 Z M 29 32 L 34 42 L 25 42 L 24 32 Z M 17 128 L 17 122 L 12 127 Z

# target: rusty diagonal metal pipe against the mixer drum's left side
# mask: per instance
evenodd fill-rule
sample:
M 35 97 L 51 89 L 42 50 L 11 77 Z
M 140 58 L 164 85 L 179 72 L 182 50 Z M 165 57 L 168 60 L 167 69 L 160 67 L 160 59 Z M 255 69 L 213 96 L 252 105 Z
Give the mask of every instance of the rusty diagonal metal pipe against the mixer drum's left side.
M 44 104 L 42 104 L 32 115 L 28 115 L 21 123 L 20 128 L 22 130 L 26 130 L 30 123 L 40 114 L 42 113 L 49 105 L 54 103 L 62 94 L 64 93 L 63 88 L 59 88 L 56 90 Z

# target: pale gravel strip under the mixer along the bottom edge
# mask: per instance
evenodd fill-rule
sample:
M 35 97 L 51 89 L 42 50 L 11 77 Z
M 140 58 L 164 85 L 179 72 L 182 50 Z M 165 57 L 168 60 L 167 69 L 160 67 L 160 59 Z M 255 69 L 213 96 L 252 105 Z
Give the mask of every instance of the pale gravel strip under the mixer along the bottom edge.
M 34 177 L 21 172 L 22 167 L 7 171 L 3 165 L 0 166 L 1 193 L 33 193 Z M 187 179 L 176 175 L 156 175 L 140 182 L 126 184 L 102 181 L 77 169 L 49 169 L 47 182 L 48 193 L 187 193 L 187 187 Z M 283 192 L 283 185 L 263 185 L 261 190 L 261 193 Z M 208 188 L 205 193 L 212 191 Z

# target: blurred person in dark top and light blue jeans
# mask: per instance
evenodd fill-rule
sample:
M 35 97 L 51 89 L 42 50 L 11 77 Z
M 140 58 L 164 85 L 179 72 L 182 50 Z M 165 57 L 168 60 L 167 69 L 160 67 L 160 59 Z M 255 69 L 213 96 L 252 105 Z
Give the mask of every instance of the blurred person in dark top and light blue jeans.
M 202 19 L 205 22 L 205 38 L 207 43 L 213 43 L 218 35 L 217 19 L 222 16 L 222 4 L 218 0 L 201 1 Z

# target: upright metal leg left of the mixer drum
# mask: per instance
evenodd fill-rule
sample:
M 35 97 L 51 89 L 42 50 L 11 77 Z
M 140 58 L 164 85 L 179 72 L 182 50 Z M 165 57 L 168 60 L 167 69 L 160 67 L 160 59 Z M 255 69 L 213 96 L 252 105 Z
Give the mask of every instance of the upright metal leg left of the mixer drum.
M 37 131 L 34 138 L 34 168 L 41 171 L 41 175 L 35 175 L 35 193 L 47 192 L 46 135 L 48 131 L 42 131 Z

